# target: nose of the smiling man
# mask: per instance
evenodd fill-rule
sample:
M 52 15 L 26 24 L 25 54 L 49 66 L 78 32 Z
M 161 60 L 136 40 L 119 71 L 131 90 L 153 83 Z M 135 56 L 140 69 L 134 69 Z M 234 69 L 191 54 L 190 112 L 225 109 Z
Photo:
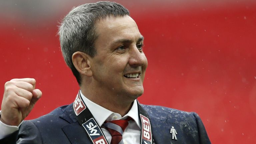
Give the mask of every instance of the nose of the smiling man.
M 147 61 L 147 58 L 145 54 L 139 51 L 136 45 L 130 49 L 129 65 L 143 66 L 146 64 L 146 61 Z

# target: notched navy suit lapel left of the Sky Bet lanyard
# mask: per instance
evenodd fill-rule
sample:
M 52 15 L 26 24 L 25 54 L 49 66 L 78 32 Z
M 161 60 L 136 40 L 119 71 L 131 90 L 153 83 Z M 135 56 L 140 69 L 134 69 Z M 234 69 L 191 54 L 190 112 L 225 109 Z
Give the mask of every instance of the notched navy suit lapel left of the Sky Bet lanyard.
M 73 103 L 63 111 L 60 118 L 69 122 L 69 124 L 62 127 L 62 130 L 66 134 L 71 144 L 91 143 L 83 127 L 80 126 L 76 120 L 75 113 L 73 111 Z

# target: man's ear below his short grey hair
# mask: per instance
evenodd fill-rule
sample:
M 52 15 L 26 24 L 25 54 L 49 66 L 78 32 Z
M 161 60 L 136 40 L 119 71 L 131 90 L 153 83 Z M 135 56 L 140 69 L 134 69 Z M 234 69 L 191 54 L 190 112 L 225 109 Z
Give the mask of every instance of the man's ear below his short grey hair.
M 86 75 L 88 77 L 92 76 L 92 70 L 91 70 L 91 65 L 89 61 L 89 55 L 87 55 L 84 52 L 77 51 L 73 53 L 72 55 L 72 62 L 77 71 L 81 75 Z

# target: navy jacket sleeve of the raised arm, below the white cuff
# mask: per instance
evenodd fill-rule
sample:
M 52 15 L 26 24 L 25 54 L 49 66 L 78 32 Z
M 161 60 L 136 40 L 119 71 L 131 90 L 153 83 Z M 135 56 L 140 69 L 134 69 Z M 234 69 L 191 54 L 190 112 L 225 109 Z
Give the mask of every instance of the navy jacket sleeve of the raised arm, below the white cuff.
M 43 144 L 43 141 L 34 123 L 24 121 L 18 131 L 1 139 L 0 144 Z

